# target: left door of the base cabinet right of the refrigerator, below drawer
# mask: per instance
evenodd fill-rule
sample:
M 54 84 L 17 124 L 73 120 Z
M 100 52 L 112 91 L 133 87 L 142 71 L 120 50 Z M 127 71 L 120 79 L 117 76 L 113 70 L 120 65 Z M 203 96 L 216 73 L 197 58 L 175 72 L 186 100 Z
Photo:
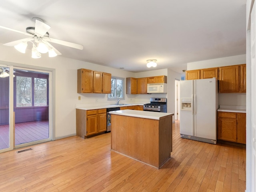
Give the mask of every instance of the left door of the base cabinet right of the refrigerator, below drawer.
M 237 141 L 236 119 L 218 118 L 218 139 L 224 141 Z

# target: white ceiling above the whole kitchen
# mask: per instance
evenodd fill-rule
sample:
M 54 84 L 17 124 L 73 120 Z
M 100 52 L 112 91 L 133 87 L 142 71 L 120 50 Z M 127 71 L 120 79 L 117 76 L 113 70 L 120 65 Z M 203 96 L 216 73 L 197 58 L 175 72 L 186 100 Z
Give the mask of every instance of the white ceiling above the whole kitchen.
M 246 53 L 246 0 L 1 0 L 0 25 L 19 31 L 33 17 L 51 26 L 52 43 L 70 57 L 132 72 Z M 28 36 L 0 28 L 2 44 Z M 17 51 L 17 54 L 22 54 Z

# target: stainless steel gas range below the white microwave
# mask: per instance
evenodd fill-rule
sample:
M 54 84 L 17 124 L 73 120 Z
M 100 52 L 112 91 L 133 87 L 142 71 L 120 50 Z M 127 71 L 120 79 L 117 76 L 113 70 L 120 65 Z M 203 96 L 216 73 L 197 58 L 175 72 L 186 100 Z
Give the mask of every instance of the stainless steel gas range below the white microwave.
M 156 111 L 167 113 L 167 99 L 150 98 L 150 103 L 146 103 L 143 105 L 143 111 Z

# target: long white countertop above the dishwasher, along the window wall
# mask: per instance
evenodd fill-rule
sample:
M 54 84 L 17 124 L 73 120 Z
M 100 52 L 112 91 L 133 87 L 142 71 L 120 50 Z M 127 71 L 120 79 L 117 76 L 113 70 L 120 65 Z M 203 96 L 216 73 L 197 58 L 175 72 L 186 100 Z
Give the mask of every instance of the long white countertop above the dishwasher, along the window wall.
M 92 110 L 92 109 L 106 109 L 106 108 L 113 108 L 113 107 L 128 107 L 128 106 L 137 106 L 137 105 L 144 105 L 145 103 L 137 103 L 137 104 L 122 104 L 120 103 L 119 105 L 106 105 L 106 104 L 98 104 L 98 105 L 91 105 L 91 104 L 80 104 L 76 105 L 76 109 L 82 109 L 82 110 Z

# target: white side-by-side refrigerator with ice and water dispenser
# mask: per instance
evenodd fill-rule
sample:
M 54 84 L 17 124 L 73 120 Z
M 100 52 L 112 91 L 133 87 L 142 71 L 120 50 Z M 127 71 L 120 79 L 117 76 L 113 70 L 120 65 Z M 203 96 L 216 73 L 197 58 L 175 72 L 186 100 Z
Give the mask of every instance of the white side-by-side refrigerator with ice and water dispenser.
M 180 81 L 180 137 L 217 143 L 218 80 Z

